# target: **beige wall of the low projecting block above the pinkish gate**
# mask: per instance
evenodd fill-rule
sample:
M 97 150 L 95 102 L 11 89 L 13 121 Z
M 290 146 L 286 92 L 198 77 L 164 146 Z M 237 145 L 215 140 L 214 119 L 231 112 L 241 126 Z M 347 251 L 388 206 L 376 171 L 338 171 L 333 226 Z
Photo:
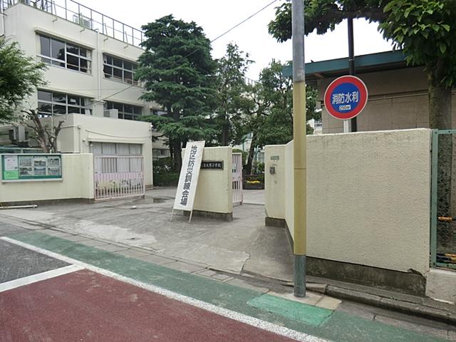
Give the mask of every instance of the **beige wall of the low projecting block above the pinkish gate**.
M 81 114 L 63 115 L 63 129 L 58 135 L 61 152 L 90 153 L 91 142 L 120 142 L 142 145 L 145 185 L 152 185 L 152 131 L 150 123 Z M 60 120 L 59 119 L 54 119 Z

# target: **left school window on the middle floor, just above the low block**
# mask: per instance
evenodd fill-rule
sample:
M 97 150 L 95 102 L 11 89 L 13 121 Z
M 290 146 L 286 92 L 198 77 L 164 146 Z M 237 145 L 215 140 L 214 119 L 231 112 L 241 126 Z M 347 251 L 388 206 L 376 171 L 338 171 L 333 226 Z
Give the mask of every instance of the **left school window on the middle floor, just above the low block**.
M 38 90 L 38 113 L 41 118 L 58 114 L 90 114 L 88 98 Z

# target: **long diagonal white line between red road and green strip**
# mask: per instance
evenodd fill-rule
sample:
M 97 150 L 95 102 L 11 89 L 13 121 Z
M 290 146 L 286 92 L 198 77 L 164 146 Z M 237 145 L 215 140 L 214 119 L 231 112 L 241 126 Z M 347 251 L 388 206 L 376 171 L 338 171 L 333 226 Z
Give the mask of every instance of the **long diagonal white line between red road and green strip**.
M 167 289 L 162 289 L 161 287 L 158 287 L 155 285 L 146 284 L 146 283 L 143 283 L 142 281 L 137 281 L 135 279 L 128 278 L 127 276 L 122 276 L 120 274 L 108 271 L 106 269 L 101 269 L 100 267 L 86 264 L 83 261 L 72 259 L 72 258 L 66 257 L 66 256 L 58 254 L 58 253 L 50 252 L 46 249 L 42 249 L 40 247 L 36 247 L 31 244 L 26 244 L 24 242 L 10 239 L 9 237 L 0 237 L 0 239 L 4 240 L 6 242 L 10 242 L 11 244 L 16 244 L 18 246 L 25 247 L 27 249 L 31 249 L 32 251 L 35 251 L 38 253 L 45 254 L 48 257 L 53 257 L 55 259 L 60 259 L 62 261 L 66 261 L 66 262 L 68 262 L 68 264 L 74 264 L 77 266 L 81 266 L 82 268 L 89 269 L 90 271 L 94 271 L 98 274 L 103 274 L 104 276 L 110 276 L 111 278 L 117 279 L 119 281 L 123 281 L 125 283 L 138 286 L 142 289 L 146 289 L 148 291 L 155 292 L 156 294 L 161 294 L 162 296 L 166 296 L 167 298 L 175 299 L 177 301 L 182 301 L 185 304 L 190 304 L 192 306 L 196 306 L 197 308 L 204 309 L 204 310 L 212 312 L 214 314 L 218 314 L 220 316 L 231 318 L 234 321 L 239 321 L 241 323 L 248 324 L 249 326 L 254 326 L 254 327 L 260 328 L 262 330 L 269 331 L 271 333 L 276 333 L 281 336 L 293 338 L 296 341 L 329 342 L 328 340 L 325 340 L 323 338 L 312 336 L 307 333 L 301 333 L 300 331 L 294 331 L 290 328 L 286 328 L 284 326 L 279 326 L 279 325 L 271 323 L 271 322 L 261 321 L 261 319 L 259 319 L 259 318 L 254 318 L 251 316 L 240 314 L 239 312 L 232 311 L 229 309 L 220 308 L 219 306 L 215 306 L 213 304 L 206 303 L 205 301 L 200 301 L 199 299 L 194 299 L 189 296 L 177 294 L 176 292 L 172 292 Z

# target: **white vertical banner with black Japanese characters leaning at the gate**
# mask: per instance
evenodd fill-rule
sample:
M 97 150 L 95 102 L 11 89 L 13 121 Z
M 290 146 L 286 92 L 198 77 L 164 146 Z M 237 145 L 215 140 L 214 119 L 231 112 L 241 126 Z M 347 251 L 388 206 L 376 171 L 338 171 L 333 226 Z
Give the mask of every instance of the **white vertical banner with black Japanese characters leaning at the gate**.
M 192 220 L 193 203 L 195 202 L 195 194 L 197 192 L 204 144 L 204 140 L 187 142 L 185 155 L 182 159 L 182 168 L 180 169 L 174 207 L 172 207 L 173 212 L 175 209 L 190 212 L 189 223 Z

